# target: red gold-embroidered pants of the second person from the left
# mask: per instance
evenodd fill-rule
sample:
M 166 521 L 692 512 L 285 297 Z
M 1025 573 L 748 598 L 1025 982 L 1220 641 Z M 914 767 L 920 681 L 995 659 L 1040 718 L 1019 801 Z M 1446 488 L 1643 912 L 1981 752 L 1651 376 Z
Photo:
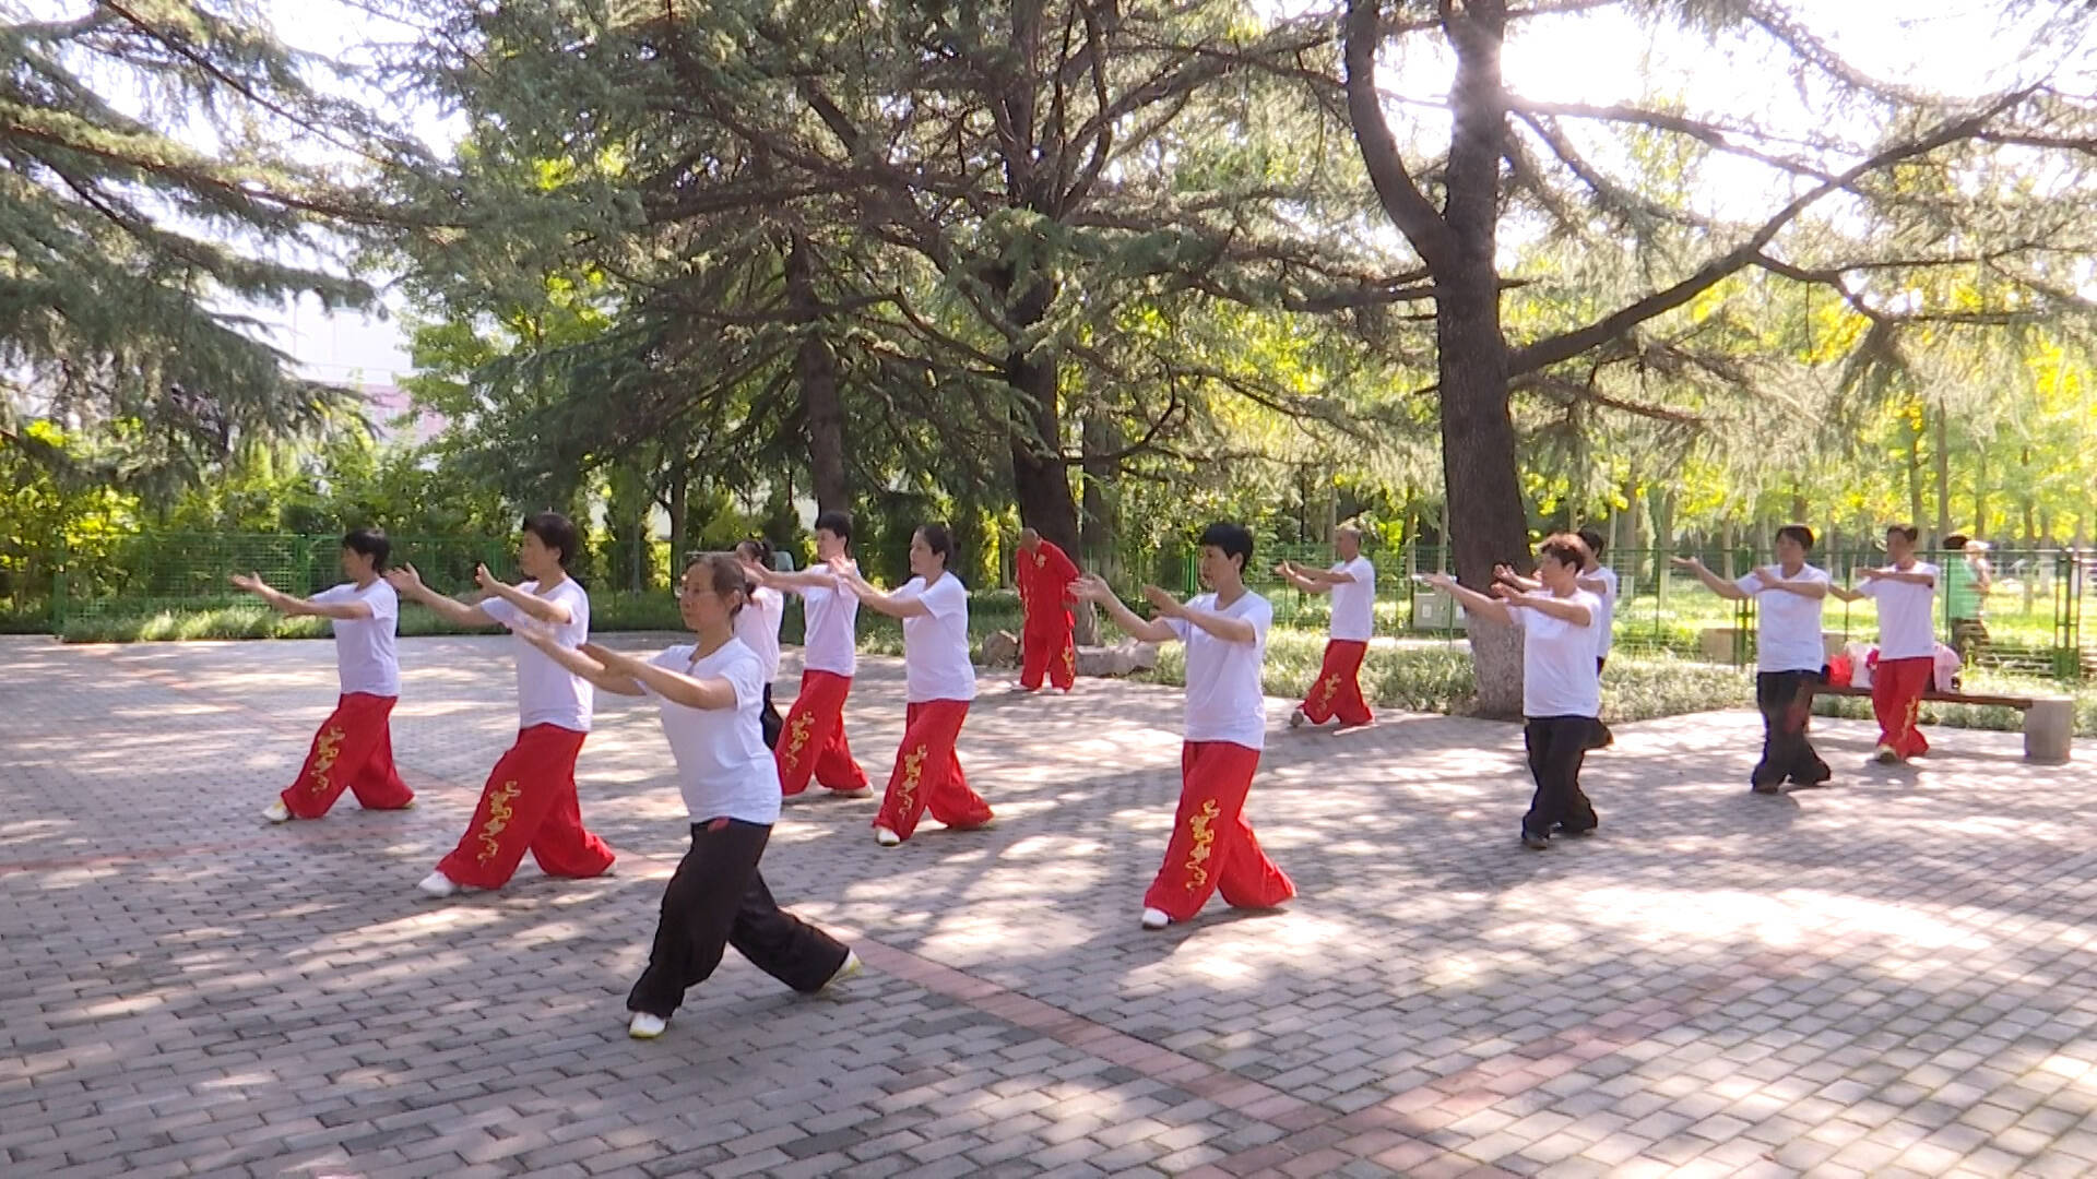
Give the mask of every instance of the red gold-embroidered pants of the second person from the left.
M 612 850 L 583 829 L 583 808 L 575 801 L 583 736 L 558 724 L 518 732 L 480 787 L 466 837 L 436 871 L 468 887 L 503 887 L 531 852 L 549 877 L 602 877 Z

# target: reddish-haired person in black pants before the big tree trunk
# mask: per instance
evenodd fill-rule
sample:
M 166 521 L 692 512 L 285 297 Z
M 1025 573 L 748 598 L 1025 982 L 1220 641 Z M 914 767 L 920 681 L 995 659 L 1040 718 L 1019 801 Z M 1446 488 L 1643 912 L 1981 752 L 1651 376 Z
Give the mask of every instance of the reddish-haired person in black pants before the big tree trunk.
M 1493 596 L 1457 585 L 1445 573 L 1424 581 L 1455 598 L 1472 621 L 1522 631 L 1522 745 L 1537 791 L 1522 816 L 1522 845 L 1550 848 L 1552 833 L 1587 835 L 1600 818 L 1579 789 L 1579 768 L 1594 747 L 1602 715 L 1602 671 L 1594 657 L 1594 625 L 1602 600 L 1581 590 L 1587 543 L 1575 535 L 1545 537 L 1537 548 L 1539 590 L 1493 583 Z

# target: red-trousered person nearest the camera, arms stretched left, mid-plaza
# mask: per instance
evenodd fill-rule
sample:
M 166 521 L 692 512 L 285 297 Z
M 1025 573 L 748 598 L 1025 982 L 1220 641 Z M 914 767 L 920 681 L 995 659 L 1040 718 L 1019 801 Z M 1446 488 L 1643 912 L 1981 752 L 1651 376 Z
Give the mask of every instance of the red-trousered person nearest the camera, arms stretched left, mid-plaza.
M 1099 577 L 1080 594 L 1105 606 L 1114 625 L 1143 642 L 1187 644 L 1187 738 L 1181 745 L 1181 797 L 1172 839 L 1149 892 L 1143 927 L 1193 921 L 1210 894 L 1233 908 L 1275 908 L 1296 896 L 1288 873 L 1260 850 L 1246 820 L 1246 795 L 1267 745 L 1260 663 L 1273 606 L 1246 587 L 1252 533 L 1216 522 L 1202 533 L 1202 594 L 1185 604 L 1155 585 L 1143 596 L 1158 610 L 1141 619 Z

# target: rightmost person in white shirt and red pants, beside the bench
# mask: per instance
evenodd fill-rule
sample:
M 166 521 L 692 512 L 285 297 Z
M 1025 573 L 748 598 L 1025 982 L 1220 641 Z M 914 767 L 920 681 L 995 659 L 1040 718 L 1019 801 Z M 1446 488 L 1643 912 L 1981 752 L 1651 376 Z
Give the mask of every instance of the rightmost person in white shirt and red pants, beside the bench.
M 1879 602 L 1879 663 L 1871 671 L 1871 711 L 1879 717 L 1879 764 L 1929 753 L 1921 730 L 1923 692 L 1938 669 L 1938 566 L 1915 558 L 1915 524 L 1885 531 L 1885 569 L 1864 569 L 1856 590 L 1837 598 Z

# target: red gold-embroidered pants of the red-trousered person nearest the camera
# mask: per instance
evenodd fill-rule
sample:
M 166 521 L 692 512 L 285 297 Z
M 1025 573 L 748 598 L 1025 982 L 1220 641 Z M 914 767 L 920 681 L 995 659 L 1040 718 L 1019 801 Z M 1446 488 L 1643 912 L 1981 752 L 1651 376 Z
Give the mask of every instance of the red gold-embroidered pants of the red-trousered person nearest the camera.
M 1223 889 L 1233 908 L 1273 908 L 1296 896 L 1288 873 L 1260 852 L 1246 822 L 1246 791 L 1260 768 L 1260 751 L 1229 741 L 1189 741 L 1181 747 L 1181 806 L 1158 879 L 1143 894 L 1145 908 L 1172 921 L 1193 921 L 1208 896 Z

